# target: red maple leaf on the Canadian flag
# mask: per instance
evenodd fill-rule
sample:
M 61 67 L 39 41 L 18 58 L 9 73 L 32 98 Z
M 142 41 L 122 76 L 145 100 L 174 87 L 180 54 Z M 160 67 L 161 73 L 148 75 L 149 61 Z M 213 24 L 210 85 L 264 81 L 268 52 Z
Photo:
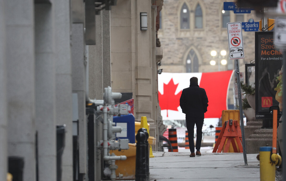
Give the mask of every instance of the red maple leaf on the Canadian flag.
M 164 83 L 164 94 L 159 92 L 159 105 L 161 110 L 167 110 L 167 117 L 168 117 L 168 110 L 178 111 L 178 106 L 180 106 L 180 96 L 182 94 L 182 90 L 175 95 L 176 89 L 178 84 L 174 84 L 173 78 L 170 80 L 168 84 Z

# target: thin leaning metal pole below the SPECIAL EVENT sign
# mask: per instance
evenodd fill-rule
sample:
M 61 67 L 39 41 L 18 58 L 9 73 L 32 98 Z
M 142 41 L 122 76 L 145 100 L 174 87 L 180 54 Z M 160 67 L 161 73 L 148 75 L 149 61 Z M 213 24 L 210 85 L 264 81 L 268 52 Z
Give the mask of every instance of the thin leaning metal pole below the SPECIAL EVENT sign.
M 237 92 L 238 92 L 238 101 L 239 101 L 240 129 L 241 129 L 241 136 L 242 136 L 243 159 L 244 159 L 244 164 L 247 165 L 238 59 L 235 59 L 235 64 L 236 64 Z

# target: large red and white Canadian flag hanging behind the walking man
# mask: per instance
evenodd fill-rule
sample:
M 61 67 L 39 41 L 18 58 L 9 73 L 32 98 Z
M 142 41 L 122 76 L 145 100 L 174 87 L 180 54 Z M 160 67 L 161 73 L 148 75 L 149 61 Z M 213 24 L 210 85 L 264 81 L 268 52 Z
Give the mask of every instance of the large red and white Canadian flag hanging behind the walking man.
M 205 118 L 220 118 L 227 110 L 227 97 L 233 70 L 208 73 L 161 73 L 158 75 L 158 96 L 163 120 L 184 120 L 180 107 L 182 90 L 189 87 L 190 78 L 197 77 L 198 85 L 206 90 L 208 111 Z

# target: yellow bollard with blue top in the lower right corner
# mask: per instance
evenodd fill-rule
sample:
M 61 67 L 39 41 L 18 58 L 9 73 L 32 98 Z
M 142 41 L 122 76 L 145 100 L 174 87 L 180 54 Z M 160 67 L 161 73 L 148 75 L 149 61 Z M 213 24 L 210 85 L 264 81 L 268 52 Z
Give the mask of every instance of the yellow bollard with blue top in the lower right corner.
M 270 160 L 272 147 L 260 147 L 260 181 L 275 181 L 276 165 Z

